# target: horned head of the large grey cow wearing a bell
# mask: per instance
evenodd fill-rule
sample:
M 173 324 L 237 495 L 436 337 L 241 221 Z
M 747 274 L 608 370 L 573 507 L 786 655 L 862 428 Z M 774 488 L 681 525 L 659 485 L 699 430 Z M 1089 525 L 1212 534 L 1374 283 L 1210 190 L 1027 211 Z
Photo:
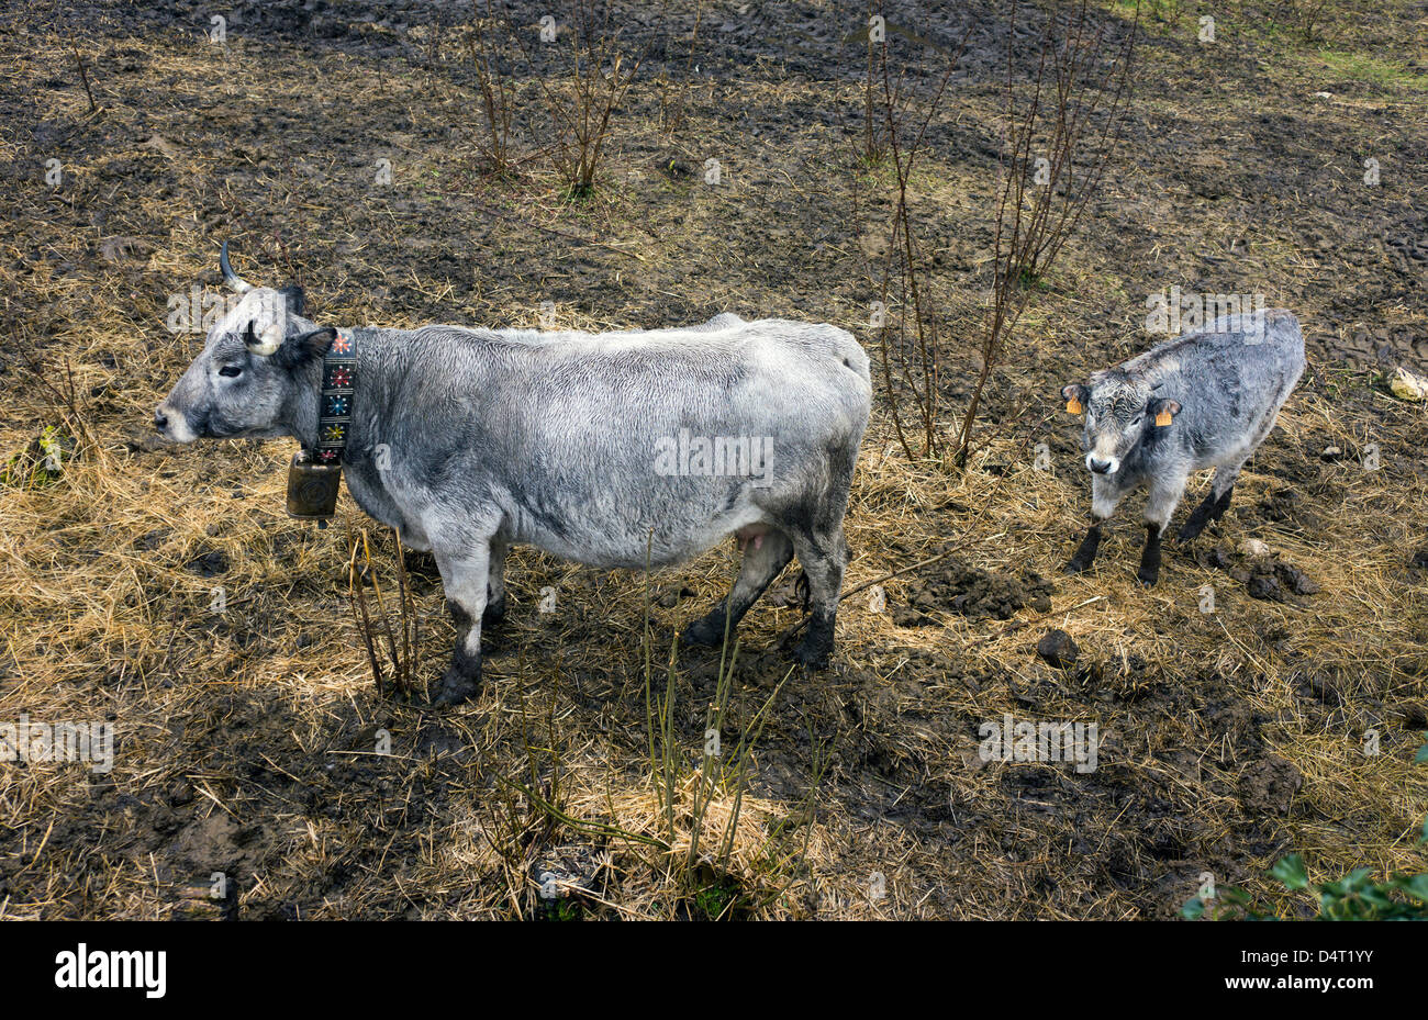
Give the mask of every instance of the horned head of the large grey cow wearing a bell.
M 203 351 L 154 411 L 154 427 L 178 442 L 198 437 L 290 435 L 306 385 L 303 368 L 327 351 L 331 328 L 303 318 L 303 291 L 246 282 L 218 267 L 241 300 L 208 331 Z

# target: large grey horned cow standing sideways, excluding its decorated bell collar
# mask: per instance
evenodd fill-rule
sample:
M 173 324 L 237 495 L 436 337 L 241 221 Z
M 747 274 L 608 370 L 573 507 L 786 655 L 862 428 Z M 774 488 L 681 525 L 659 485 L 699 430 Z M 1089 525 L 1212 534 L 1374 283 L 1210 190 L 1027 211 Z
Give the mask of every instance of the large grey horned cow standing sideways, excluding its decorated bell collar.
M 337 331 L 301 292 L 251 287 L 208 332 L 154 414 L 176 441 L 317 442 L 323 357 Z M 353 328 L 353 421 L 343 455 L 357 505 L 430 549 L 457 623 L 434 699 L 480 686 L 481 626 L 504 613 L 507 549 L 643 568 L 737 535 L 730 595 L 684 636 L 723 641 L 794 554 L 811 619 L 795 651 L 833 649 L 847 563 L 843 518 L 867 425 L 868 358 L 845 331 L 720 315 L 611 334 Z

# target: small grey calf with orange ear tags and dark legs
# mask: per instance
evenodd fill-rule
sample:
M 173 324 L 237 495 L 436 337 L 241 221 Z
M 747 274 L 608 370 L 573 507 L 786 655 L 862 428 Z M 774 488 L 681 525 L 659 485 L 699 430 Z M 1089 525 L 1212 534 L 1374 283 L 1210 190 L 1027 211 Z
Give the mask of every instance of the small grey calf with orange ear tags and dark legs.
M 1145 548 L 1141 583 L 1160 578 L 1161 535 L 1191 472 L 1215 478 L 1177 539 L 1188 542 L 1230 508 L 1235 479 L 1274 428 L 1304 372 L 1304 334 L 1284 308 L 1224 315 L 1210 325 L 1152 347 L 1061 391 L 1067 408 L 1085 408 L 1085 466 L 1091 471 L 1091 526 L 1067 565 L 1091 566 L 1101 524 L 1142 485 Z

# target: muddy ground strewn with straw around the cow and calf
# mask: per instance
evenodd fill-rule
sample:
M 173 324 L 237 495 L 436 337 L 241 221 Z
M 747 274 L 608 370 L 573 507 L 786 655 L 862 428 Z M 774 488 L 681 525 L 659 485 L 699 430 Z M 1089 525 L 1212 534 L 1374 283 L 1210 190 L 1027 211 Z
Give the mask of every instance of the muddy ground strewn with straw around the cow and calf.
M 166 328 L 170 298 L 217 292 L 221 240 L 324 322 L 737 311 L 871 348 L 891 198 L 857 158 L 864 4 L 671 7 L 610 11 L 644 63 L 573 203 L 544 6 L 508 7 L 520 163 L 493 177 L 470 4 L 237 3 L 221 43 L 197 1 L 6 4 L 0 445 L 56 427 L 77 455 L 0 488 L 0 719 L 117 736 L 107 773 L 0 765 L 0 916 L 1151 919 L 1205 873 L 1292 914 L 1305 902 L 1264 877 L 1288 852 L 1319 877 L 1421 869 L 1428 425 L 1384 377 L 1428 372 L 1424 3 L 1344 3 L 1309 39 L 1231 4 L 1212 44 L 1191 11 L 1144 19 L 1102 193 L 1012 337 L 968 468 L 908 462 L 880 391 L 845 586 L 944 558 L 850 596 L 824 675 L 790 675 L 780 648 L 793 576 L 745 621 L 715 729 L 757 743 L 731 849 L 705 840 L 704 863 L 631 833 L 687 846 L 690 820 L 658 809 L 650 703 L 661 642 L 721 595 L 733 545 L 650 579 L 517 552 L 481 698 L 433 710 L 377 693 L 351 615 L 348 529 L 370 532 L 390 605 L 386 529 L 347 496 L 326 531 L 287 519 L 290 441 L 153 441 L 201 344 Z M 968 39 L 912 193 L 951 429 L 988 292 L 1007 19 L 885 13 L 922 101 Z M 1104 13 L 1130 31 L 1127 6 Z M 1230 515 L 1167 554 L 1158 588 L 1134 579 L 1134 501 L 1067 578 L 1088 485 L 1057 392 L 1152 342 L 1145 298 L 1172 285 L 1294 310 L 1309 369 Z M 438 581 L 413 585 L 424 683 L 451 629 Z M 718 659 L 684 653 L 668 680 L 685 793 Z M 1097 767 L 982 760 L 980 728 L 1008 715 L 1097 723 Z

